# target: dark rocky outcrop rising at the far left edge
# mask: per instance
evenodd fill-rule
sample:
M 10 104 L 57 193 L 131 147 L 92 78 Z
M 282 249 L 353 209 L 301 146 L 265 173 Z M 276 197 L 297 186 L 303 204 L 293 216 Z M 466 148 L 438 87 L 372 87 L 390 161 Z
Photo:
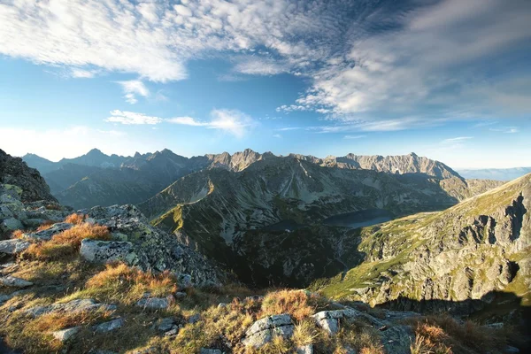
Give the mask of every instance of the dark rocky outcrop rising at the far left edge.
M 0 183 L 11 184 L 21 189 L 22 202 L 46 200 L 57 202 L 50 188 L 35 168 L 29 168 L 21 158 L 13 158 L 0 150 Z

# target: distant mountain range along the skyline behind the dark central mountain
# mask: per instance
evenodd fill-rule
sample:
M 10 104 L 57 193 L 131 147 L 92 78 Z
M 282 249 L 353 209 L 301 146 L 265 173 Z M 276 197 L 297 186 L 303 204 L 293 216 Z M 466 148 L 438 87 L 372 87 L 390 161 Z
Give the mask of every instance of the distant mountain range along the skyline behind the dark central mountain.
M 260 154 L 250 149 L 232 155 L 223 152 L 193 158 L 182 157 L 167 149 L 147 154 L 137 152 L 133 157 L 107 156 L 94 149 L 79 158 L 64 158 L 57 163 L 35 155 L 26 157 L 29 163 L 40 164 L 47 171 L 43 176 L 59 201 L 76 208 L 137 204 L 189 173 L 203 169 L 242 172 L 261 161 L 279 160 L 271 152 Z M 371 169 L 394 175 L 414 174 L 425 182 L 428 178 L 435 178 L 443 181 L 443 189 L 456 201 L 476 193 L 471 192 L 468 182 L 447 165 L 415 154 L 391 157 L 349 154 L 342 158 L 324 159 L 292 154 L 290 158 L 336 169 Z M 409 177 L 408 181 L 413 178 Z M 487 190 L 496 183 L 478 181 L 475 185 L 479 190 Z

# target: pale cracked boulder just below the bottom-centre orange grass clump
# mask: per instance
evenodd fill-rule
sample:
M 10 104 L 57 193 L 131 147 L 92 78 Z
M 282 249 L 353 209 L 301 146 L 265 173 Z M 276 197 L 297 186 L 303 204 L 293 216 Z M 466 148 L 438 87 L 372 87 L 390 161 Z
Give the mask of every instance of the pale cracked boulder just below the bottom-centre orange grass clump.
M 261 348 L 267 342 L 271 342 L 273 336 L 281 335 L 284 338 L 289 338 L 293 335 L 294 330 L 295 326 L 288 313 L 273 315 L 264 319 L 258 319 L 253 323 L 245 332 L 245 338 L 242 340 L 242 343 L 255 348 Z

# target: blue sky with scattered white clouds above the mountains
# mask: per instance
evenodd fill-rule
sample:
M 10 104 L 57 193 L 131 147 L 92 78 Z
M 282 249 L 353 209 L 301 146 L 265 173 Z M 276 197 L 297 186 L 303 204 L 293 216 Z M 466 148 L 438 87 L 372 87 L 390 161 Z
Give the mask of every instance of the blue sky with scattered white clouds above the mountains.
M 531 3 L 1 1 L 0 148 L 531 165 Z

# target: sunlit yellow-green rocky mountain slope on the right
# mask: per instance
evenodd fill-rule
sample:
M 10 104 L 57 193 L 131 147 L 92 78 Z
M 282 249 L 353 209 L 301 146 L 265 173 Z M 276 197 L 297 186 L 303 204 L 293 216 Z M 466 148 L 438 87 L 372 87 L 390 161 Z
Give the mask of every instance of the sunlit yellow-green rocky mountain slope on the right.
M 514 292 L 531 304 L 531 174 L 443 212 L 361 231 L 364 261 L 322 287 L 372 304 L 464 301 Z M 317 285 L 316 285 L 317 286 Z

